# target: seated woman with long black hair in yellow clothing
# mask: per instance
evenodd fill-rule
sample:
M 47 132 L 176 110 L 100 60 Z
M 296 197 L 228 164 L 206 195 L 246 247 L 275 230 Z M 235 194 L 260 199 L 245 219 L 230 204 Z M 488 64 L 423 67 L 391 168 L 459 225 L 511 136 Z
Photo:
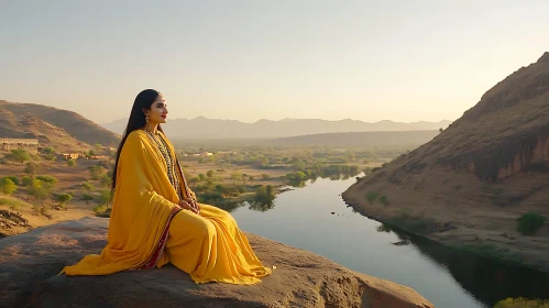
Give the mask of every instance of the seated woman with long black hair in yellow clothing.
M 164 98 L 147 89 L 138 95 L 117 152 L 112 212 L 107 246 L 66 266 L 66 275 L 107 275 L 172 263 L 197 284 L 256 284 L 268 275 L 234 219 L 199 205 L 188 188 L 166 122 Z

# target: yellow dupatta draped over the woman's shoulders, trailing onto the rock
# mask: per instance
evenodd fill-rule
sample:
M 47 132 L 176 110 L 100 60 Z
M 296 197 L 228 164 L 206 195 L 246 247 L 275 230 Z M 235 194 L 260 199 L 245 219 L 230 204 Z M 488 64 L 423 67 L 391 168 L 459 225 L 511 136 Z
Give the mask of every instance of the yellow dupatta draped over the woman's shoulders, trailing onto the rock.
M 161 134 L 175 151 L 167 139 Z M 176 158 L 175 158 L 176 160 Z M 180 173 L 180 170 L 179 170 Z M 185 197 L 194 195 L 184 187 Z M 193 196 L 194 197 L 194 196 Z M 179 198 L 167 177 L 167 165 L 145 132 L 129 134 L 117 168 L 107 246 L 63 268 L 66 275 L 107 275 L 127 270 L 152 268 L 167 239 L 169 221 L 179 210 Z

